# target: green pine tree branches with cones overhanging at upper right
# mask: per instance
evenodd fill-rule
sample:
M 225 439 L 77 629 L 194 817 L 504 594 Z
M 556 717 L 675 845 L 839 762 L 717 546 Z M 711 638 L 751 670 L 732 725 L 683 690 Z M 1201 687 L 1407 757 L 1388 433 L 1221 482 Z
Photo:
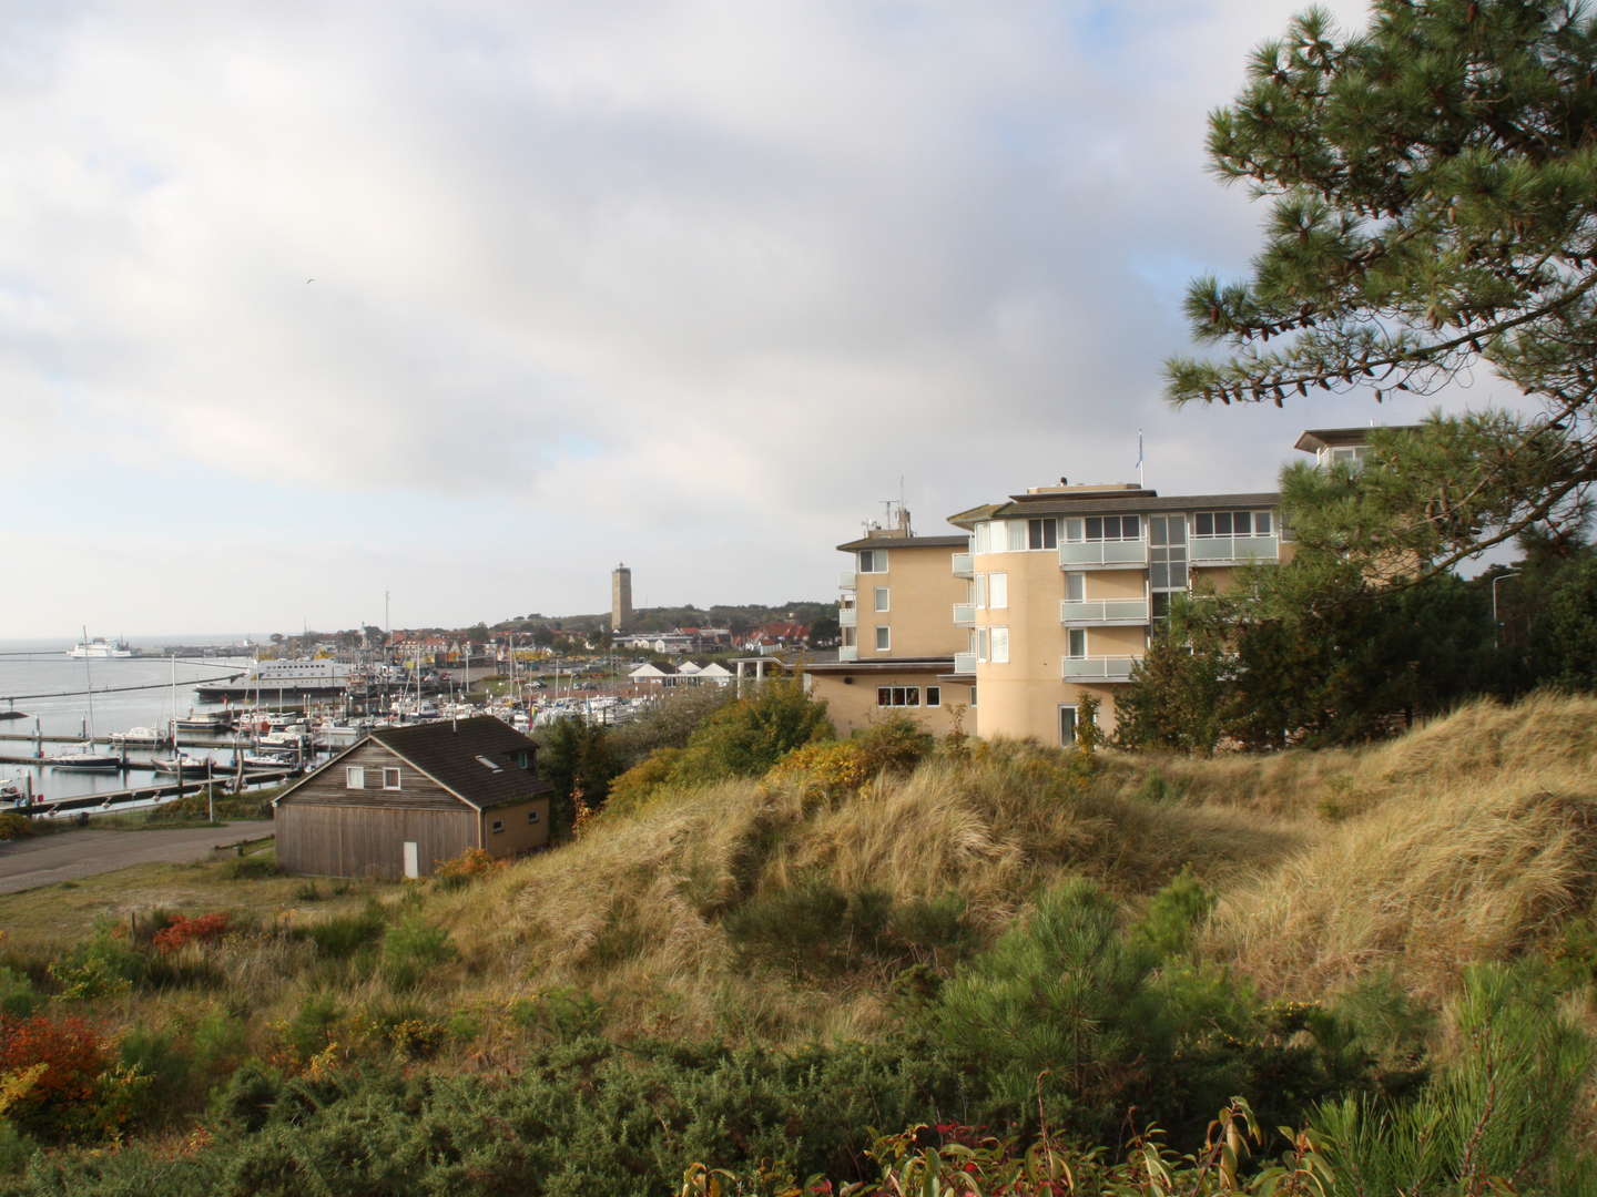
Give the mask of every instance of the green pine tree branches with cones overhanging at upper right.
M 1171 361 L 1172 401 L 1380 401 L 1488 365 L 1541 410 L 1404 450 L 1426 466 L 1396 516 L 1417 563 L 1579 522 L 1597 480 L 1592 128 L 1597 21 L 1578 3 L 1377 0 L 1349 37 L 1297 18 L 1209 118 L 1215 174 L 1273 206 L 1249 281 L 1191 284 L 1195 335 L 1231 356 Z

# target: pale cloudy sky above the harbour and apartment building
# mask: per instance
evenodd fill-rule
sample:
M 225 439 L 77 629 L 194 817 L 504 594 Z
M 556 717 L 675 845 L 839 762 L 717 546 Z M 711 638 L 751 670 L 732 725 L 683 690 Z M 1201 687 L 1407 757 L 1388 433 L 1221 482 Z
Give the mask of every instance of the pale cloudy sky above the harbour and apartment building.
M 1163 399 L 1298 8 L 0 0 L 0 637 L 829 600 L 885 500 L 1417 418 Z

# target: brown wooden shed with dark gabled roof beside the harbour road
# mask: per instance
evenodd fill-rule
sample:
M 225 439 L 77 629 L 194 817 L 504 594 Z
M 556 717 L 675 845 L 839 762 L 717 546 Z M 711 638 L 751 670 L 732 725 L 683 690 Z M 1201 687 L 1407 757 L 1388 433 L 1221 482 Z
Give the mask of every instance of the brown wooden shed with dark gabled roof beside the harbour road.
M 318 876 L 414 878 L 468 847 L 549 841 L 538 745 L 492 715 L 383 728 L 273 800 L 278 863 Z

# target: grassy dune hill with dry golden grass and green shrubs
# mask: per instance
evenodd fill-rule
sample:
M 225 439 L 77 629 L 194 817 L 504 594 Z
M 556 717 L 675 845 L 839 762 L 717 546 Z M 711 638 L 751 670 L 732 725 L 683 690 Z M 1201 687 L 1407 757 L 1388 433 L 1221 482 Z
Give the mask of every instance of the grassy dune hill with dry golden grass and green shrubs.
M 636 1132 L 647 1149 L 604 1165 L 604 1181 L 505 1189 L 516 1192 L 616 1191 L 615 1175 L 637 1178 L 624 1191 L 660 1191 L 717 1151 L 752 1163 L 752 1127 L 728 1130 L 725 1114 L 704 1128 L 722 1100 L 770 1103 L 767 1130 L 787 1109 L 776 1125 L 791 1133 L 759 1140 L 765 1149 L 787 1143 L 795 1167 L 858 1175 L 867 1124 L 987 1119 L 1040 1133 L 1046 1106 L 1049 1125 L 1092 1136 L 1115 1135 L 1137 1104 L 1198 1143 L 1231 1093 L 1302 1124 L 1314 1109 L 1330 1117 L 1319 1103 L 1407 1100 L 1405 1085 L 1426 1080 L 1442 1092 L 1468 1057 L 1458 1028 L 1493 993 L 1512 1013 L 1540 986 L 1536 1001 L 1559 1013 L 1546 1005 L 1535 1025 L 1570 1042 L 1597 1029 L 1594 752 L 1597 701 L 1575 697 L 1472 705 L 1357 752 L 1258 758 L 965 742 L 870 776 L 850 771 L 853 747 L 819 745 L 760 777 L 656 790 L 577 843 L 423 886 L 284 899 L 283 881 L 228 881 L 204 865 L 214 884 L 163 878 L 166 899 L 190 897 L 155 911 L 129 884 L 110 915 L 131 932 L 80 924 L 53 943 L 37 932 L 0 942 L 0 1010 L 81 1017 L 109 1057 L 126 1063 L 131 1041 L 145 1076 L 110 1125 L 145 1146 L 117 1163 L 35 1156 L 24 1191 L 131 1192 L 147 1179 L 139 1168 L 174 1152 L 195 1192 L 228 1191 L 228 1168 L 278 1143 L 283 1111 L 375 1101 L 374 1077 L 401 1090 L 431 1079 L 425 1096 L 383 1098 L 423 1122 L 446 1080 L 449 1101 L 522 1103 L 500 1114 L 514 1122 L 532 1117 L 529 1087 L 586 1109 L 594 1093 L 653 1077 L 653 1096 L 626 1088 L 658 1122 Z M 276 886 L 278 905 L 243 891 L 230 902 L 227 886 Z M 45 895 L 0 899 L 0 926 L 11 903 L 37 911 Z M 224 908 L 232 934 L 172 951 L 150 938 L 172 915 Z M 1512 972 L 1472 972 L 1480 962 Z M 1059 1001 L 1078 982 L 1075 1039 L 1046 1037 L 1075 1017 Z M 1544 1047 L 1527 1055 L 1555 1055 Z M 1056 1074 L 1046 1084 L 1038 1061 Z M 733 1101 L 728 1069 L 765 1096 Z M 840 1100 L 805 1088 L 827 1069 L 856 1077 L 867 1104 L 850 1106 L 858 1125 L 822 1133 L 795 1111 Z M 0 1053 L 0 1092 L 5 1073 Z M 1576 1073 L 1584 1084 L 1584 1065 Z M 698 1088 L 706 1077 L 714 1093 Z M 573 1096 L 578 1082 L 588 1088 Z M 251 1084 L 268 1095 L 259 1119 L 240 1112 L 254 1109 Z M 160 1103 L 145 1104 L 153 1093 Z M 545 1098 L 556 1101 L 535 1104 Z M 607 1109 L 592 1119 L 626 1120 Z M 101 1114 L 83 1117 L 67 1141 L 107 1133 Z M 300 1138 L 279 1127 L 287 1138 L 271 1157 L 283 1192 L 305 1175 L 281 1152 L 321 1125 L 294 1117 Z M 34 1141 L 61 1141 L 50 1119 L 26 1124 Z M 179 1151 L 196 1125 L 216 1143 Z M 605 1140 L 583 1127 L 569 1133 Z M 1570 1143 L 1586 1130 L 1576 1120 Z M 505 1175 L 535 1165 L 516 1167 Z M 1527 1171 L 1525 1191 L 1544 1173 Z M 168 1191 L 188 1191 L 172 1175 Z M 361 1191 L 350 1184 L 334 1191 Z

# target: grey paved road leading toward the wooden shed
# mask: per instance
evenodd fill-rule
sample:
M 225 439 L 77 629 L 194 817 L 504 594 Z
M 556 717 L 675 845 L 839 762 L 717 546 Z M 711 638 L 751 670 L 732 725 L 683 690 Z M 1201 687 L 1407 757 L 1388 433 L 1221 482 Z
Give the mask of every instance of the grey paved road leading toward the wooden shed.
M 271 835 L 270 819 L 233 819 L 172 832 L 61 832 L 0 844 L 0 894 L 77 881 L 113 868 L 204 860 L 216 844 Z

